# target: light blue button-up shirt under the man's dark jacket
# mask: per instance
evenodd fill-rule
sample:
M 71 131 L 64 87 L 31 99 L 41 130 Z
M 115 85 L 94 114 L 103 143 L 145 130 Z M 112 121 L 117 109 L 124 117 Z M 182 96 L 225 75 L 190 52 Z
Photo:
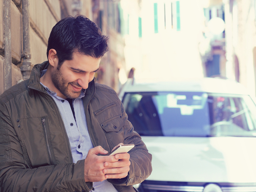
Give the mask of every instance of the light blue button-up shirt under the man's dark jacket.
M 43 76 L 46 71 L 47 70 L 42 71 L 41 76 Z M 44 86 L 47 93 L 53 98 L 58 106 L 66 132 L 68 134 L 73 162 L 76 163 L 78 160 L 85 159 L 89 150 L 93 148 L 93 144 L 88 132 L 86 114 L 84 113 L 82 101 L 86 90 L 82 90 L 80 96 L 72 100 L 75 112 L 74 118 L 69 101 L 57 96 L 57 93 L 51 91 L 44 84 L 42 84 L 42 86 Z M 116 188 L 107 180 L 102 182 L 94 182 L 93 187 L 93 192 L 118 192 Z

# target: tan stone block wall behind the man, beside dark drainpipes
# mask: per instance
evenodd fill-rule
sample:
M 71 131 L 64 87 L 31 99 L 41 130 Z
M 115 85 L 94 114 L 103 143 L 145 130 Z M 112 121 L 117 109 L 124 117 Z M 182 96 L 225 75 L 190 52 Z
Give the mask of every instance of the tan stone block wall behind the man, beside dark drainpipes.
M 30 14 L 30 49 L 31 69 L 47 60 L 46 50 L 48 37 L 52 27 L 61 19 L 61 6 L 70 6 L 72 0 L 29 0 Z M 62 3 L 62 4 L 61 4 Z M 3 13 L 4 0 L 0 0 L 0 12 Z M 61 4 L 61 5 L 60 5 Z M 70 7 L 66 15 L 72 14 Z M 23 30 L 22 30 L 22 0 L 11 1 L 11 48 L 12 48 L 12 85 L 23 80 L 20 67 L 22 66 Z M 4 19 L 0 15 L 0 94 L 4 92 Z

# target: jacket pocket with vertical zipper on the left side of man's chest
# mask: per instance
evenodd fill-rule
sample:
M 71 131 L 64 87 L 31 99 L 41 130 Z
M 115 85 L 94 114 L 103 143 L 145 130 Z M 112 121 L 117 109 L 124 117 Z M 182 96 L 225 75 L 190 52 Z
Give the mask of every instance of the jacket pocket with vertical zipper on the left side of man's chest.
M 18 129 L 24 157 L 32 168 L 54 164 L 47 116 L 20 119 Z

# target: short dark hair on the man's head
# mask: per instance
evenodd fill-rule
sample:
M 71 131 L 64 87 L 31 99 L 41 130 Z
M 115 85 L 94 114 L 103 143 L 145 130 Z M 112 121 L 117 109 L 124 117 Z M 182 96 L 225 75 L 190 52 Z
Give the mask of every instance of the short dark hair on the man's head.
M 86 16 L 68 16 L 52 28 L 47 57 L 50 49 L 56 50 L 60 68 L 65 60 L 72 60 L 75 51 L 94 58 L 102 57 L 109 50 L 108 37 L 101 35 L 98 26 Z

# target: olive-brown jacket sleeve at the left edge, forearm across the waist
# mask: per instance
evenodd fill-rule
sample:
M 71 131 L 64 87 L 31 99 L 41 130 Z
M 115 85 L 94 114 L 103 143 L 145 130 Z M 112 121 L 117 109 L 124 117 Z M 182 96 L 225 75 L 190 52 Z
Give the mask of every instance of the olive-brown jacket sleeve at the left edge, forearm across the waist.
M 83 160 L 29 168 L 9 116 L 0 104 L 0 191 L 89 191 Z

